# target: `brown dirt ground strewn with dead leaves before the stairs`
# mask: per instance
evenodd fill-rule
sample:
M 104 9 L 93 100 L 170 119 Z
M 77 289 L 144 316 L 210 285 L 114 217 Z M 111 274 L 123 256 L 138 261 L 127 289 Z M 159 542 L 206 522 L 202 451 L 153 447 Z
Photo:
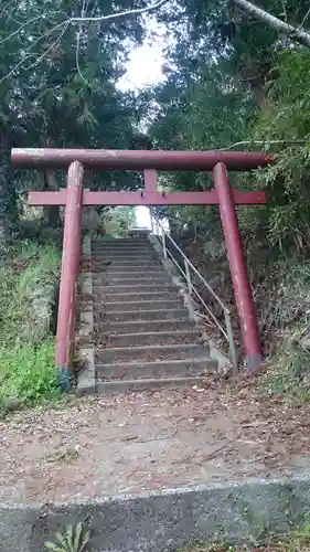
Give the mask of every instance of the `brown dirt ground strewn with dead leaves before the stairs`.
M 70 501 L 300 473 L 310 407 L 248 384 L 70 397 L 0 422 L 0 500 Z

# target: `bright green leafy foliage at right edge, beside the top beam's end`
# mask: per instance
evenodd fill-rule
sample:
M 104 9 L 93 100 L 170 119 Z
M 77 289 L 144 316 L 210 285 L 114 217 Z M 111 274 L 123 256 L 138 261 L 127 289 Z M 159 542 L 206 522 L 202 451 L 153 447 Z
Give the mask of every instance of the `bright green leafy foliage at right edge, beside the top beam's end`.
M 277 163 L 258 171 L 257 184 L 269 192 L 264 225 L 271 244 L 288 254 L 304 255 L 310 237 L 309 53 L 281 52 L 278 67 L 279 77 L 270 83 L 266 104 L 253 124 L 253 138 L 266 140 L 266 149 L 274 151 L 279 147 L 271 140 L 282 145 Z

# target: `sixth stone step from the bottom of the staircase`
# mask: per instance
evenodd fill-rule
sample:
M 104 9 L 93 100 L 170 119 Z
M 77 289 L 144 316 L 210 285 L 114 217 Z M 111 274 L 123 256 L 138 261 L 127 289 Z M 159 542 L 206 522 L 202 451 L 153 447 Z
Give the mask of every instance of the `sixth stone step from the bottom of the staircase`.
M 101 318 L 101 315 L 97 311 L 94 312 L 95 322 L 99 323 L 114 323 L 120 322 L 126 323 L 126 321 L 138 321 L 145 322 L 152 320 L 189 320 L 189 311 L 185 308 L 177 308 L 177 309 L 149 309 L 149 310 L 116 310 L 109 312 L 107 316 Z

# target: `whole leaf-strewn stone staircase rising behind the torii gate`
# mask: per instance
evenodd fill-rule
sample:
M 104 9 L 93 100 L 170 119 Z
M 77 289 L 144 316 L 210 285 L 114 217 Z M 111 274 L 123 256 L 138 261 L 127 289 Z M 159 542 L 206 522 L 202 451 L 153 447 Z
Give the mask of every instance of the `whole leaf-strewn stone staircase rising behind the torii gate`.
M 199 383 L 216 369 L 148 236 L 93 240 L 96 392 Z

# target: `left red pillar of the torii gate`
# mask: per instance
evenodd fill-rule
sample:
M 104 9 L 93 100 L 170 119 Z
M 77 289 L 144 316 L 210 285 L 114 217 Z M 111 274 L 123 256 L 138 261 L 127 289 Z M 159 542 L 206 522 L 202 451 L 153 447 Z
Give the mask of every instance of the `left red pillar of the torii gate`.
M 73 376 L 76 290 L 82 237 L 83 173 L 83 164 L 79 161 L 71 163 L 67 172 L 56 343 L 56 365 L 64 391 L 70 391 Z

